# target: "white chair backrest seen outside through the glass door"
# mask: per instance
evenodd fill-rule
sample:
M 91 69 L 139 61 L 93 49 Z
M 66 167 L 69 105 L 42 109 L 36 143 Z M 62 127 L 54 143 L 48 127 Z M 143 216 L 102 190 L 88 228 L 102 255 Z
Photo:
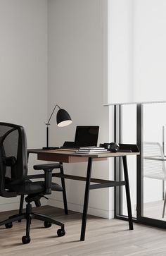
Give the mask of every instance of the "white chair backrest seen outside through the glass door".
M 166 180 L 164 154 L 158 142 L 143 142 L 143 176 Z

